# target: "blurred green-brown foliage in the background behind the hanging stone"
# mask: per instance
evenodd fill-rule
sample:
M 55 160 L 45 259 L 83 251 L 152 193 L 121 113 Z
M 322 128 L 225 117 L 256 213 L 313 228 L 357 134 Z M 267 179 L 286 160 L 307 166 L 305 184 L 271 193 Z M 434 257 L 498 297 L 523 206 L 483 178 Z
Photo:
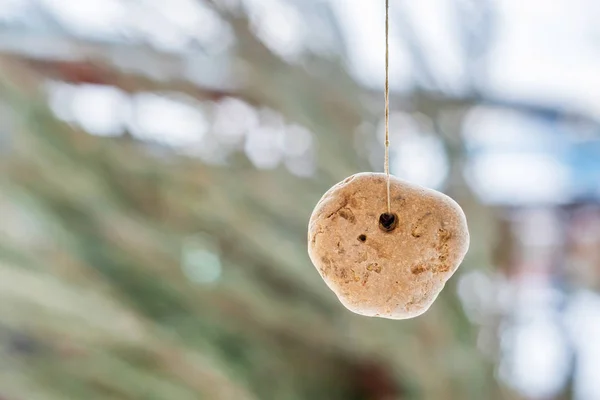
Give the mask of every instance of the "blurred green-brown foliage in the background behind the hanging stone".
M 83 51 L 97 55 L 89 60 L 3 57 L 2 101 L 16 123 L 1 161 L 0 394 L 515 398 L 477 350 L 454 283 L 425 316 L 404 322 L 352 315 L 326 289 L 306 255 L 308 216 L 332 183 L 370 168 L 353 135 L 363 121 L 375 122 L 369 109 L 381 99 L 335 62 L 315 61 L 333 74 L 285 63 L 245 18 L 222 15 L 239 39 L 233 64 L 245 66 L 243 84 L 226 89 L 125 71 L 102 46 Z M 260 172 L 242 155 L 209 166 L 156 155 L 128 136 L 88 135 L 48 109 L 47 79 L 269 107 L 317 134 L 317 177 Z M 449 107 L 447 99 L 420 98 L 404 101 L 432 116 Z M 474 218 L 492 219 L 466 197 Z M 198 233 L 220 252 L 223 275 L 214 285 L 193 283 L 181 268 L 182 246 Z

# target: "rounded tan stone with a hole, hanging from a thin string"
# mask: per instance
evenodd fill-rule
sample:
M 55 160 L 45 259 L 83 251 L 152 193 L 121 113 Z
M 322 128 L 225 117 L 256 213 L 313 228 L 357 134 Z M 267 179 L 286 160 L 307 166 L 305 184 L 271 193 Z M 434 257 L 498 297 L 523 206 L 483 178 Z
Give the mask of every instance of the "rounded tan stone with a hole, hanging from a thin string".
M 389 319 L 429 309 L 469 248 L 465 214 L 450 197 L 391 177 L 398 225 L 379 226 L 387 212 L 386 176 L 360 173 L 323 195 L 310 218 L 308 252 L 342 304 Z

